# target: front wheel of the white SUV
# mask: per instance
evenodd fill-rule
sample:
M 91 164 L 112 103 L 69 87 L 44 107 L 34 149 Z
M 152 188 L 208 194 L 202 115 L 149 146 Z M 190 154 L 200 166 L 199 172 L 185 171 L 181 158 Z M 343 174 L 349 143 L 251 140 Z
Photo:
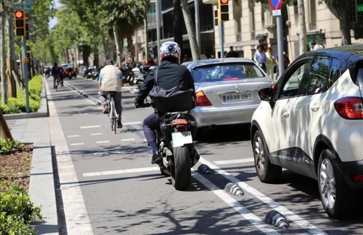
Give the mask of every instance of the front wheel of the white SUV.
M 276 182 L 281 177 L 281 166 L 274 165 L 270 161 L 270 153 L 260 131 L 256 131 L 253 137 L 253 156 L 256 173 L 261 182 Z

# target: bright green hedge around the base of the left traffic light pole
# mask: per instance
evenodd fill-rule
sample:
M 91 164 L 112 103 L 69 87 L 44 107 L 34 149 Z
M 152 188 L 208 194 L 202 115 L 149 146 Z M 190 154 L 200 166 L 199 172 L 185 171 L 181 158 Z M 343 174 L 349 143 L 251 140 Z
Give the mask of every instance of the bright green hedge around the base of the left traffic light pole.
M 40 93 L 42 91 L 41 75 L 34 76 L 28 83 L 29 85 L 29 107 L 30 112 L 36 112 L 40 107 Z M 17 90 L 17 98 L 8 98 L 8 103 L 3 104 L 0 100 L 1 111 L 3 114 L 17 114 L 26 112 L 26 101 Z M 25 95 L 25 90 L 24 90 Z

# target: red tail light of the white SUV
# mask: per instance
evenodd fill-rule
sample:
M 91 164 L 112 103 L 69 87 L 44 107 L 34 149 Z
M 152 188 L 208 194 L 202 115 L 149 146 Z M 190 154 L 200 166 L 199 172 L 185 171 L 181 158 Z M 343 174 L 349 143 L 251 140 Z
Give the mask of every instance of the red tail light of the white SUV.
M 363 100 L 360 97 L 344 97 L 334 103 L 335 110 L 345 119 L 363 119 Z

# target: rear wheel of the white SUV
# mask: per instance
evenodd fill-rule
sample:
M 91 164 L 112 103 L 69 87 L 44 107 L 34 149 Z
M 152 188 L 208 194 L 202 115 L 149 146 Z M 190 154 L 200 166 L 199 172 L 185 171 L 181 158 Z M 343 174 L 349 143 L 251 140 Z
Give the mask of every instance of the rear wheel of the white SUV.
M 329 149 L 320 154 L 318 187 L 326 213 L 331 218 L 341 219 L 353 211 L 358 194 L 345 182 L 337 157 Z

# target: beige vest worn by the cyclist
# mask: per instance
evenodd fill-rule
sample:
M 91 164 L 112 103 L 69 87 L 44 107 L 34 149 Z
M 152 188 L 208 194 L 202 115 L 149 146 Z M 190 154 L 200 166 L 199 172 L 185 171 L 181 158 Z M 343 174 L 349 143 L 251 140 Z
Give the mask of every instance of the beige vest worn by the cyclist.
M 114 65 L 106 65 L 100 71 L 101 90 L 103 91 L 117 91 L 121 92 L 121 71 Z

